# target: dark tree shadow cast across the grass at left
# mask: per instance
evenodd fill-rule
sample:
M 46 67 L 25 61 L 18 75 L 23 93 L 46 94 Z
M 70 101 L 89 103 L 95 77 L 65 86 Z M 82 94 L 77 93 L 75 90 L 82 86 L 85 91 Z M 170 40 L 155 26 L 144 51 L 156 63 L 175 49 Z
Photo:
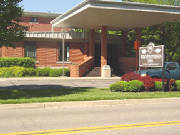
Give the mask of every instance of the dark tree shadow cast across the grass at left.
M 86 92 L 90 87 L 65 87 L 63 85 L 19 85 L 0 87 L 0 100 L 56 97 Z

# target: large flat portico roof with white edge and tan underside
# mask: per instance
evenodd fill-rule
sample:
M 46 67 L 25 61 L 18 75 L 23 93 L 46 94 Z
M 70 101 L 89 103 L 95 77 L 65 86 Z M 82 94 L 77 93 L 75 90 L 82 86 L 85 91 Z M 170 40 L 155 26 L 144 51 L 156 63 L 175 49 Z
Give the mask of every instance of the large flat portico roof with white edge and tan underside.
M 180 7 L 115 0 L 85 0 L 54 19 L 54 27 L 132 29 L 180 20 Z

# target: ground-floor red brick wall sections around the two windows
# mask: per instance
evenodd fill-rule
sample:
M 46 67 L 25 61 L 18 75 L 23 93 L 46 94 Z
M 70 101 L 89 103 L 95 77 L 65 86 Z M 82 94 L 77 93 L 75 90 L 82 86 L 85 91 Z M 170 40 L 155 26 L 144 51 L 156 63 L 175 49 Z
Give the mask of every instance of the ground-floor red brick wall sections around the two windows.
M 57 41 L 37 41 L 36 42 L 37 67 L 60 67 L 58 62 L 59 42 Z M 2 49 L 2 48 L 1 48 Z M 0 49 L 0 50 L 1 50 Z M 24 57 L 24 42 L 16 43 L 16 48 L 3 47 L 4 57 Z M 72 63 L 82 63 L 84 61 L 84 44 L 70 43 L 70 61 Z M 65 66 L 70 66 L 65 64 Z

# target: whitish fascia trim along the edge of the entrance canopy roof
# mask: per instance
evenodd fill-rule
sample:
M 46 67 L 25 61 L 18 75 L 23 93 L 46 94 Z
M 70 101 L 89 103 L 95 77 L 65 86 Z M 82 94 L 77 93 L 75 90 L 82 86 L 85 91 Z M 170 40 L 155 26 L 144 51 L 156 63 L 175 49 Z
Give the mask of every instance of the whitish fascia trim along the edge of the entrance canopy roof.
M 61 23 L 69 18 L 77 15 L 78 13 L 88 9 L 113 9 L 113 10 L 126 10 L 126 11 L 141 11 L 141 12 L 154 12 L 154 13 L 165 13 L 165 14 L 175 14 L 180 15 L 179 6 L 169 6 L 169 5 L 155 5 L 155 4 L 145 4 L 137 2 L 118 2 L 112 0 L 85 0 L 80 3 L 78 6 L 74 7 L 72 10 L 69 10 L 65 14 L 57 17 L 51 24 L 58 27 Z

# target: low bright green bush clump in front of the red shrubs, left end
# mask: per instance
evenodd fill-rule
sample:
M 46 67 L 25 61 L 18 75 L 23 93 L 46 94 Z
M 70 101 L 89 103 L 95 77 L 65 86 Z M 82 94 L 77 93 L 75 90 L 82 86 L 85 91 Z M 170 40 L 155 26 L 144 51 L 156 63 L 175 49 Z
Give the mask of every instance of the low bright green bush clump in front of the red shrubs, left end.
M 138 80 L 133 81 L 119 81 L 110 85 L 111 91 L 122 91 L 122 92 L 136 92 L 143 88 L 143 82 Z

